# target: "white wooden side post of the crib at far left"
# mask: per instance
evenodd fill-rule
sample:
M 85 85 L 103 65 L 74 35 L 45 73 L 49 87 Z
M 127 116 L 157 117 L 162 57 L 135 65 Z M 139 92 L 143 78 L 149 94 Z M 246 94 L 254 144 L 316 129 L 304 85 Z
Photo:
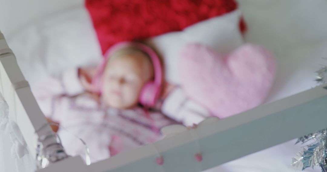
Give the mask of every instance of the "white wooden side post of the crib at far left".
M 51 154 L 55 160 L 66 158 L 61 153 L 63 148 L 58 143 L 51 127 L 38 106 L 28 82 L 25 80 L 16 57 L 0 32 L 0 92 L 9 106 L 9 119 L 17 123 L 24 137 L 29 153 L 34 159 L 37 153 Z M 45 139 L 45 136 L 46 139 Z M 42 138 L 42 139 L 40 139 Z M 43 145 L 47 151 L 37 152 L 37 145 Z M 51 146 L 50 146 L 51 145 Z M 65 154 L 65 153 L 64 153 Z M 41 161 L 41 158 L 38 157 Z M 43 158 L 44 159 L 44 158 Z M 47 165 L 51 164 L 51 160 Z M 40 166 L 40 165 L 39 165 Z M 46 166 L 44 163 L 43 167 Z

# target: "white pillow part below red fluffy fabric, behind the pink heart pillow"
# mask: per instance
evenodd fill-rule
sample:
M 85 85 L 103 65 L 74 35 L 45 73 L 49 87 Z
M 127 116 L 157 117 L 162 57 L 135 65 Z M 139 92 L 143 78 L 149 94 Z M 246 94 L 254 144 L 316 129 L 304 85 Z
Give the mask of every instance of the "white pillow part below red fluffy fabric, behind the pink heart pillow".
M 208 19 L 185 28 L 180 32 L 153 37 L 150 44 L 163 56 L 165 78 L 179 84 L 178 59 L 183 46 L 188 43 L 201 43 L 222 54 L 227 54 L 243 44 L 239 30 L 241 12 L 235 10 L 223 16 Z

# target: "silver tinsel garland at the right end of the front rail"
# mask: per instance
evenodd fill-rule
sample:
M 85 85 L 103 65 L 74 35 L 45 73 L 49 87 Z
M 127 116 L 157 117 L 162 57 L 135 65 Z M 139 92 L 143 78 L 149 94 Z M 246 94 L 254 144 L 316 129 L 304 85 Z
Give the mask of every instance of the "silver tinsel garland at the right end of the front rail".
M 327 66 L 320 68 L 317 72 L 318 84 L 327 83 Z M 325 87 L 327 89 L 327 87 Z M 303 151 L 295 154 L 292 165 L 304 170 L 307 167 L 320 166 L 322 172 L 327 172 L 327 128 L 302 136 L 295 143 L 311 142 Z

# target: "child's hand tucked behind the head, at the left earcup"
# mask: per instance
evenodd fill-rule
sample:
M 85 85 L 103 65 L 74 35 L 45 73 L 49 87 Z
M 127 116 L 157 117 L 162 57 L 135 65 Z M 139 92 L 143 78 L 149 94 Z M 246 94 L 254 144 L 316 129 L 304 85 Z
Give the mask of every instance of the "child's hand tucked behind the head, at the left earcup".
M 92 79 L 96 75 L 96 67 L 78 68 L 78 78 L 83 88 L 88 92 L 94 92 Z

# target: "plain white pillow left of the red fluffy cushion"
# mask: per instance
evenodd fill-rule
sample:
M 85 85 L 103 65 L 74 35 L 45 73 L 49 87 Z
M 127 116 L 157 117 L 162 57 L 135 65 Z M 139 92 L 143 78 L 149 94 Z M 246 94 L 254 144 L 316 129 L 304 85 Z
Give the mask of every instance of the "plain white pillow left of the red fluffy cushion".
M 8 40 L 30 84 L 102 59 L 91 19 L 84 7 L 62 11 L 23 28 Z

